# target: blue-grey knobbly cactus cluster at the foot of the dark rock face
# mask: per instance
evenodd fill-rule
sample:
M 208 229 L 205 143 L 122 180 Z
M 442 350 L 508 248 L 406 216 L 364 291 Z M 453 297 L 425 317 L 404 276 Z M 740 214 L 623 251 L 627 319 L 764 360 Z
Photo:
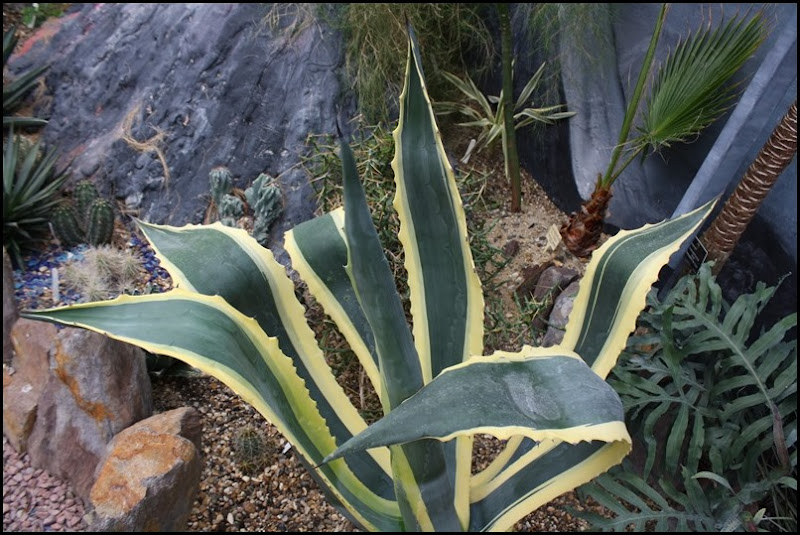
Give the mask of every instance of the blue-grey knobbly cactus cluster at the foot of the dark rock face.
M 233 177 L 226 167 L 215 167 L 208 174 L 211 198 L 223 225 L 235 227 L 246 208 L 242 199 L 233 195 Z M 262 245 L 269 238 L 269 227 L 283 210 L 281 190 L 275 179 L 266 174 L 258 175 L 253 184 L 244 191 L 247 205 L 253 214 L 253 237 Z

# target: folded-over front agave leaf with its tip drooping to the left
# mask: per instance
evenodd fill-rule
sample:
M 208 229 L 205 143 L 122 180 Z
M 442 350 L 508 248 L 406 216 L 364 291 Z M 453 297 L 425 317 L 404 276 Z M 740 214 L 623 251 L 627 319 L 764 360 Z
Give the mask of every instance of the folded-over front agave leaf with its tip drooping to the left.
M 526 347 L 444 370 L 324 462 L 378 446 L 477 433 L 571 444 L 629 440 L 619 397 L 580 357 Z

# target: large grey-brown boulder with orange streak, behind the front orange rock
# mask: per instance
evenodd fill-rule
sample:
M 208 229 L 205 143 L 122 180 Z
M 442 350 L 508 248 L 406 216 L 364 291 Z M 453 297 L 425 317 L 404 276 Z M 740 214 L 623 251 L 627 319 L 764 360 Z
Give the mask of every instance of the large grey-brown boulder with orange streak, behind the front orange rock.
M 49 357 L 28 452 L 35 467 L 86 497 L 108 441 L 152 413 L 144 354 L 97 333 L 62 329 Z

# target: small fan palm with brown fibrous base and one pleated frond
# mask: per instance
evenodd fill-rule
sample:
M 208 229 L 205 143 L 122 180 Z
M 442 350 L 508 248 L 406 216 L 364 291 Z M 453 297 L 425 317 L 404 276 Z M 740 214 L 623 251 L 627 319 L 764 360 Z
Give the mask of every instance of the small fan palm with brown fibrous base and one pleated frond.
M 749 20 L 733 17 L 715 30 L 698 30 L 671 51 L 648 91 L 666 15 L 667 4 L 663 4 L 608 167 L 598 175 L 591 198 L 561 228 L 567 248 L 578 256 L 588 256 L 597 247 L 614 181 L 638 156 L 659 152 L 674 143 L 688 143 L 722 116 L 738 95 L 738 84 L 730 85 L 729 81 L 766 37 L 761 13 Z M 642 99 L 645 106 L 637 133 L 631 137 Z

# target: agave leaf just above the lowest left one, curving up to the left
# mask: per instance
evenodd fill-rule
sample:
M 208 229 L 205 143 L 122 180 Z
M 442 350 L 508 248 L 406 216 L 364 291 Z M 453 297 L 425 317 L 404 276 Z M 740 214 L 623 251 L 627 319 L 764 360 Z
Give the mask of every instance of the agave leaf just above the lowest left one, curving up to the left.
M 294 296 L 294 284 L 272 254 L 245 231 L 214 223 L 181 228 L 139 222 L 176 287 L 220 295 L 276 337 L 297 368 L 309 395 L 338 442 L 366 423 L 336 382 Z M 197 258 L 204 262 L 198 262 Z M 356 475 L 386 499 L 394 499 L 388 451 L 350 460 Z

